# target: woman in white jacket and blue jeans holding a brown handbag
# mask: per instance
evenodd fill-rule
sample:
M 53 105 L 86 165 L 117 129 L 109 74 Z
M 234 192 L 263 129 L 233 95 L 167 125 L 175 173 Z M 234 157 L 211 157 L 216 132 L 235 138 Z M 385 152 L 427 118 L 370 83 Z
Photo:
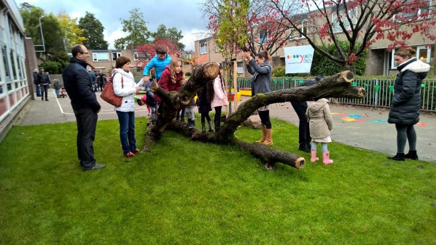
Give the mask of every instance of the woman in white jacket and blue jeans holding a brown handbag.
M 133 95 L 139 91 L 133 74 L 130 72 L 130 60 L 120 56 L 115 63 L 113 92 L 123 97 L 121 107 L 115 107 L 120 122 L 120 140 L 125 157 L 134 157 L 139 153 L 135 139 L 135 100 Z

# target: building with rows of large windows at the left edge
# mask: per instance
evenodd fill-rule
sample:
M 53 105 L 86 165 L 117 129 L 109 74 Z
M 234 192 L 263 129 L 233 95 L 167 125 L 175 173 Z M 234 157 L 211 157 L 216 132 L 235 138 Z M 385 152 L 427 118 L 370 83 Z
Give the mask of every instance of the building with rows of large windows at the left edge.
M 14 0 L 0 0 L 0 141 L 31 97 L 27 56 L 34 58 L 34 49 L 25 39 L 18 7 Z

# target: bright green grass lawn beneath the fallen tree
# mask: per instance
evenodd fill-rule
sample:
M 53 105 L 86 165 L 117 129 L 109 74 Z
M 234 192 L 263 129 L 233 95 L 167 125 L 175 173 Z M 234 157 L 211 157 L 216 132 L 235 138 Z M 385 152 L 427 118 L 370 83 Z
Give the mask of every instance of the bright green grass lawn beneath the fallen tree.
M 136 120 L 139 147 L 146 122 Z M 298 129 L 272 123 L 272 147 L 304 156 L 303 169 L 267 171 L 239 148 L 170 131 L 126 160 L 110 120 L 94 142 L 107 168 L 84 172 L 76 123 L 14 126 L 0 144 L 0 244 L 436 243 L 434 163 L 335 142 L 332 165 L 311 163 Z M 253 142 L 261 130 L 236 136 Z

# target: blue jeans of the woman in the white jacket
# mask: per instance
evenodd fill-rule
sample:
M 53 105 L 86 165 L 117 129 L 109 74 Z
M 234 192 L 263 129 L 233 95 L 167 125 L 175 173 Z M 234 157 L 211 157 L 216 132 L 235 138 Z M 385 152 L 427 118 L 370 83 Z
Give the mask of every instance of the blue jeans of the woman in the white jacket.
M 128 153 L 136 149 L 135 140 L 135 112 L 116 111 L 120 122 L 120 140 L 123 152 Z

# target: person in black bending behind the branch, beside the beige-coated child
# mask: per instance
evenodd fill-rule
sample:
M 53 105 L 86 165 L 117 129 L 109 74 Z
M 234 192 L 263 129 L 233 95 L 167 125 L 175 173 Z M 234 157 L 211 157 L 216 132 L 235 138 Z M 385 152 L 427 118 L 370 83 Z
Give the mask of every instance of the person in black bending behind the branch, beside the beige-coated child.
M 307 80 L 304 83 L 298 85 L 301 86 L 311 86 L 315 82 L 323 79 L 324 76 L 318 76 L 313 80 Z M 309 130 L 309 122 L 306 117 L 307 101 L 291 100 L 291 105 L 300 120 L 298 125 L 298 150 L 310 153 L 311 152 L 311 132 Z

